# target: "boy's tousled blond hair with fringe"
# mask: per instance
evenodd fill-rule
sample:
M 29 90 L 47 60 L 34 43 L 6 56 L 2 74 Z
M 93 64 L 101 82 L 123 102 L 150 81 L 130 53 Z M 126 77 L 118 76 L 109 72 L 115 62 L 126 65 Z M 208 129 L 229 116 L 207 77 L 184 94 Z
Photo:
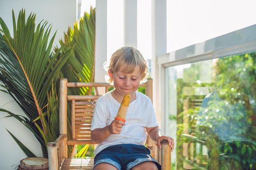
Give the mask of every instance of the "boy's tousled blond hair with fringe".
M 122 47 L 115 51 L 111 58 L 110 63 L 105 63 L 105 70 L 110 70 L 110 73 L 121 71 L 123 73 L 129 74 L 134 71 L 134 68 L 139 66 L 141 74 L 141 83 L 146 82 L 147 78 L 147 62 L 142 56 L 141 52 L 134 47 Z M 106 76 L 106 81 L 110 84 L 113 80 L 110 76 Z

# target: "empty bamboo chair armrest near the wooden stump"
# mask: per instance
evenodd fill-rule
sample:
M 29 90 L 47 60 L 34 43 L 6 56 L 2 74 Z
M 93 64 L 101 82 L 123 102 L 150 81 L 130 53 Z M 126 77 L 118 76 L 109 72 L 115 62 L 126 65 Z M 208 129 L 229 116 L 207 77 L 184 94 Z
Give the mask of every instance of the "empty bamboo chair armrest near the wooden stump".
M 59 170 L 59 163 L 62 161 L 61 144 L 66 135 L 59 135 L 54 142 L 47 143 L 49 170 Z M 59 152 L 59 153 L 58 153 Z

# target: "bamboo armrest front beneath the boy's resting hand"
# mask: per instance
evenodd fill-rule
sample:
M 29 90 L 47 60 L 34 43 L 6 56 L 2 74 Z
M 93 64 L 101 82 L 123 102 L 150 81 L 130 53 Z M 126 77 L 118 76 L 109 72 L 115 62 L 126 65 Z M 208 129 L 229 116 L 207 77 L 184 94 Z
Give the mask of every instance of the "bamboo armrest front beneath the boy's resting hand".
M 167 140 L 161 141 L 162 148 L 158 150 L 158 162 L 162 170 L 171 170 L 171 148 Z

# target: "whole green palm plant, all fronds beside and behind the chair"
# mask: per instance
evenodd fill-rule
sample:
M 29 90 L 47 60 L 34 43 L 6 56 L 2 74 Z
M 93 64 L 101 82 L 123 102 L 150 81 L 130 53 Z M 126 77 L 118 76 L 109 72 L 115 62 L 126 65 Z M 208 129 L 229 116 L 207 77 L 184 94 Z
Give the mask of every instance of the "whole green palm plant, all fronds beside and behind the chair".
M 61 47 L 56 47 L 54 53 L 56 33 L 50 38 L 51 25 L 47 21 L 36 26 L 36 15 L 31 13 L 26 19 L 23 9 L 17 22 L 14 12 L 12 15 L 13 37 L 0 17 L 0 86 L 4 87 L 1 91 L 13 97 L 27 118 L 4 109 L 0 111 L 24 124 L 37 137 L 47 156 L 47 142 L 59 135 L 58 91 L 54 90 L 58 89 L 58 79 L 93 81 L 95 9 L 91 8 L 90 15 L 85 13 L 79 25 L 69 28 L 64 40 L 60 40 Z M 75 91 L 91 92 L 85 88 Z M 69 123 L 68 129 L 71 129 Z M 16 142 L 21 146 L 18 139 Z

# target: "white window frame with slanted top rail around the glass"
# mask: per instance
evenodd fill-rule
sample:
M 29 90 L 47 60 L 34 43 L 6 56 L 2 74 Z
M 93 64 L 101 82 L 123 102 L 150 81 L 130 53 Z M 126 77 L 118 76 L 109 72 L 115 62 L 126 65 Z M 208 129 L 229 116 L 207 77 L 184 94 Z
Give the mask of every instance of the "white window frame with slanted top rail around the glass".
M 166 110 L 168 102 L 165 98 L 167 92 L 165 68 L 254 51 L 256 51 L 256 25 L 157 56 L 156 84 L 159 87 L 159 100 L 155 104 L 158 106 L 158 113 L 161 113 L 161 127 L 164 133 L 167 135 L 170 131 Z

